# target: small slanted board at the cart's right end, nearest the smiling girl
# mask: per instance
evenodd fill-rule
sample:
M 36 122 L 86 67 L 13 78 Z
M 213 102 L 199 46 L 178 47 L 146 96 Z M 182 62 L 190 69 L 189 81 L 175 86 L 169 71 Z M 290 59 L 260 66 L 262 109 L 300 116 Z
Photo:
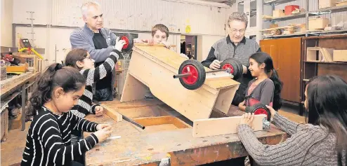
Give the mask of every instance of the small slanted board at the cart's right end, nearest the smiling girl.
M 214 109 L 221 111 L 223 113 L 228 113 L 230 104 L 233 102 L 236 90 L 239 88 L 239 85 L 233 88 L 225 88 L 219 91 L 218 97 L 216 99 L 216 104 Z

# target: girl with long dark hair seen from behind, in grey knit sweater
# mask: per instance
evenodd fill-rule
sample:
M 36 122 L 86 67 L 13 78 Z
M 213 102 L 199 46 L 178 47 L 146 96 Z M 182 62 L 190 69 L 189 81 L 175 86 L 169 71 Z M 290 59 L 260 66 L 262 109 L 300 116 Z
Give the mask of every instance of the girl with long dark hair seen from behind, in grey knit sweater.
M 244 114 L 237 127 L 249 155 L 258 165 L 339 165 L 347 163 L 347 83 L 339 76 L 317 76 L 308 82 L 305 107 L 311 124 L 295 123 L 272 107 L 272 123 L 291 137 L 277 145 L 261 144 Z M 313 125 L 315 124 L 315 125 Z

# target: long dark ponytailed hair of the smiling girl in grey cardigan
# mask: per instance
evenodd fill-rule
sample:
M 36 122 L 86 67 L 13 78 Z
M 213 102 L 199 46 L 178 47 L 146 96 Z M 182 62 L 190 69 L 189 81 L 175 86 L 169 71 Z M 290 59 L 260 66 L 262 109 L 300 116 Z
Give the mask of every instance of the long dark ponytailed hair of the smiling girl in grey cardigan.
M 263 52 L 254 53 L 249 58 L 255 60 L 258 62 L 258 64 L 265 64 L 264 70 L 275 85 L 275 90 L 273 92 L 273 109 L 279 110 L 282 106 L 281 90 L 283 83 L 280 80 L 280 76 L 277 74 L 277 71 L 273 68 L 273 59 L 270 57 L 270 55 Z

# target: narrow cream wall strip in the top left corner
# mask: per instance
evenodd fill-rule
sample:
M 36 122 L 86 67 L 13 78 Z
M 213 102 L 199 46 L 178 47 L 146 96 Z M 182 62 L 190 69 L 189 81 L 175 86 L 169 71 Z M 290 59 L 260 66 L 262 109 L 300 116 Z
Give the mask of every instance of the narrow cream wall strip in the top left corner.
M 1 0 L 1 46 L 12 46 L 13 0 Z

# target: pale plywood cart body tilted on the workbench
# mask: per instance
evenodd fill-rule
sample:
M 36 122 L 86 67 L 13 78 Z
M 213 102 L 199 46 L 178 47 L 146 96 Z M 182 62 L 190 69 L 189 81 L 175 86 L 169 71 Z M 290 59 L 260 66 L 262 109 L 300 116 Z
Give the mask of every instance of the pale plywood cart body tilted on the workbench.
M 185 60 L 161 46 L 134 46 L 120 101 L 143 99 L 148 87 L 155 97 L 190 120 L 209 118 L 213 109 L 227 113 L 240 83 L 222 71 L 220 76 L 209 74 L 201 88 L 188 90 L 173 78 Z

